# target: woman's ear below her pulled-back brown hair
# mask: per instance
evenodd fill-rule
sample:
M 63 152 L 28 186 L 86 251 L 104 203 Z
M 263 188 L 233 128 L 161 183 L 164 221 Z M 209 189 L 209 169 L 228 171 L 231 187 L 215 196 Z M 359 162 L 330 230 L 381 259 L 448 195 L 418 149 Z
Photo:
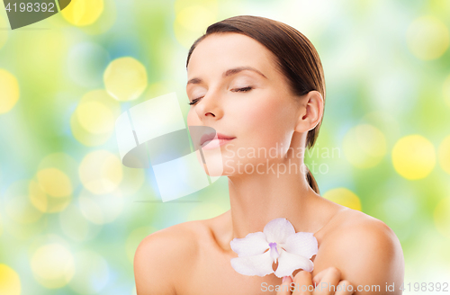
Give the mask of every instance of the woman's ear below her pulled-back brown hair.
M 300 100 L 302 103 L 295 131 L 306 132 L 314 129 L 319 124 L 323 114 L 324 102 L 322 94 L 316 90 L 303 95 Z

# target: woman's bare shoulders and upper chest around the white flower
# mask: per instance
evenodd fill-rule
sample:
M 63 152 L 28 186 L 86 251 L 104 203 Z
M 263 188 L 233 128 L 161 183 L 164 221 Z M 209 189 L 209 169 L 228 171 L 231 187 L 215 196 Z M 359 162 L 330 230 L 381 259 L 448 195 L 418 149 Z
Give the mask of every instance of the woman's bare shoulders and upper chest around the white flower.
M 320 283 L 318 275 L 331 267 L 336 273 L 330 276 L 324 290 L 328 290 L 330 283 L 337 285 L 342 280 L 355 288 L 358 284 L 379 285 L 381 290 L 356 291 L 354 294 L 383 294 L 386 282 L 401 285 L 403 256 L 400 243 L 390 228 L 365 213 L 343 208 L 326 199 L 318 200 L 318 206 L 329 220 L 323 227 L 318 225 L 317 231 L 311 230 L 318 239 L 319 252 L 312 259 L 314 270 L 309 276 L 310 283 Z M 282 279 L 273 273 L 265 277 L 236 273 L 229 260 L 238 255 L 230 249 L 226 238 L 230 223 L 230 211 L 227 211 L 213 219 L 185 222 L 146 237 L 135 257 L 138 294 L 251 295 L 262 291 L 277 295 L 302 294 L 276 292 L 276 285 L 281 285 Z M 370 246 L 371 242 L 375 244 Z M 308 275 L 305 279 L 304 273 L 293 273 L 297 285 L 308 282 Z M 288 279 L 284 284 L 291 282 Z M 268 291 L 269 286 L 274 291 Z M 389 294 L 401 294 L 401 291 L 396 289 Z

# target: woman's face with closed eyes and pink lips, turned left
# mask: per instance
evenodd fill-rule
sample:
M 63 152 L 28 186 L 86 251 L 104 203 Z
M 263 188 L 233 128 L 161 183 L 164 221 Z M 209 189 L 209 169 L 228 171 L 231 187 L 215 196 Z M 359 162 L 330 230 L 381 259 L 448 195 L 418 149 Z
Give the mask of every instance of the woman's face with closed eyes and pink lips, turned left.
M 256 169 L 284 156 L 301 104 L 271 51 L 243 34 L 212 34 L 193 50 L 187 76 L 193 103 L 188 126 L 208 126 L 234 138 L 218 147 L 223 175 L 249 173 L 249 165 Z M 263 170 L 259 165 L 258 171 Z

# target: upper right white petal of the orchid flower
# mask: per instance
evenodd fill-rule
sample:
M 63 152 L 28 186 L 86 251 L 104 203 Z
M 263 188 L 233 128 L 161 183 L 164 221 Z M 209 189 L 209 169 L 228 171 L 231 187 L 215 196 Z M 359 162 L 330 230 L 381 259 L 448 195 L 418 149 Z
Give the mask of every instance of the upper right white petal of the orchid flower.
M 317 238 L 314 233 L 298 232 L 287 237 L 286 243 L 281 245 L 289 253 L 311 258 L 318 251 Z

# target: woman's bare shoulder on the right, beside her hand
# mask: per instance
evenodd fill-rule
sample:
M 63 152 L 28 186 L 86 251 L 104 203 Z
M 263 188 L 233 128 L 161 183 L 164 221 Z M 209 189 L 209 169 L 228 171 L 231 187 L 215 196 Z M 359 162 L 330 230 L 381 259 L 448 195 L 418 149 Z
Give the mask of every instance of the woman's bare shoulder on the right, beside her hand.
M 385 288 L 386 283 L 399 286 L 403 282 L 401 243 L 392 228 L 380 219 L 358 210 L 347 210 L 333 232 L 324 239 L 323 247 L 329 266 L 336 266 L 342 278 L 355 285 Z M 390 294 L 401 294 L 397 288 Z M 372 293 L 377 292 L 356 292 Z

